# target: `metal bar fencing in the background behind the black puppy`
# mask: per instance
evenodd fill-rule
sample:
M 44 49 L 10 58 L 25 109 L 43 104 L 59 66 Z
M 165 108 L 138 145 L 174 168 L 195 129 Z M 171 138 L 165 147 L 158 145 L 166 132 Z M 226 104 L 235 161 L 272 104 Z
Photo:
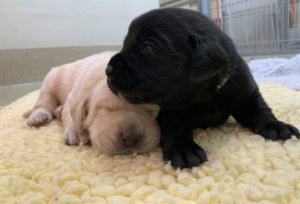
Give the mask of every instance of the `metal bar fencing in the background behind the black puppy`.
M 194 7 L 228 34 L 243 55 L 300 52 L 300 0 L 160 0 Z M 172 4 L 171 4 L 172 3 Z

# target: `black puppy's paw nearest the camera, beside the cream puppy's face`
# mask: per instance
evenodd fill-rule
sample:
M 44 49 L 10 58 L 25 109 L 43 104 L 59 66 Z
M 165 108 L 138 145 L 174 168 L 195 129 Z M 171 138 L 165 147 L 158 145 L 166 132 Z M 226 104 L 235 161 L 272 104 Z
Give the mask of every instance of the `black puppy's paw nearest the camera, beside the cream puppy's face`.
M 163 149 L 164 161 L 171 161 L 173 167 L 189 168 L 208 161 L 205 151 L 195 142 L 177 144 Z

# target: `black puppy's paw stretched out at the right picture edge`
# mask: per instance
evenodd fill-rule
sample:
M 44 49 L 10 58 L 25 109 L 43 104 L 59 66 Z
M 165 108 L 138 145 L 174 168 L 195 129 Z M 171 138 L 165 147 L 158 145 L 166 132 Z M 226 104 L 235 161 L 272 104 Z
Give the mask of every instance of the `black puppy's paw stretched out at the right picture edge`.
M 297 128 L 281 121 L 265 123 L 264 125 L 256 128 L 255 133 L 258 133 L 269 140 L 287 140 L 290 139 L 292 135 L 297 138 L 300 137 L 300 133 Z

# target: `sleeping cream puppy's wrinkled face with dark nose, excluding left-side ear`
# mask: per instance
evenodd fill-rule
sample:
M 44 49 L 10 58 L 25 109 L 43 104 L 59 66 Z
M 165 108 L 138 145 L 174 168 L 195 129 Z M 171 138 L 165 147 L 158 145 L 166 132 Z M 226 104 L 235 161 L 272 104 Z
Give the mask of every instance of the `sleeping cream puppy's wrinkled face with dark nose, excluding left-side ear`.
M 92 146 L 108 154 L 154 149 L 160 141 L 157 113 L 153 105 L 135 110 L 98 110 L 89 128 Z

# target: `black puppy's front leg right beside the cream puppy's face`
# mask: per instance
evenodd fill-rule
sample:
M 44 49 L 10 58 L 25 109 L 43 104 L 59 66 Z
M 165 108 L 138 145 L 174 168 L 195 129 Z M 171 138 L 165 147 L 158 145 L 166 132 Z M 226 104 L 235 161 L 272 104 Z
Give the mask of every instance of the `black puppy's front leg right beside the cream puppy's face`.
M 176 113 L 161 111 L 158 123 L 164 161 L 171 161 L 173 167 L 179 168 L 198 166 L 207 161 L 205 151 L 193 141 L 192 130 L 183 126 Z

